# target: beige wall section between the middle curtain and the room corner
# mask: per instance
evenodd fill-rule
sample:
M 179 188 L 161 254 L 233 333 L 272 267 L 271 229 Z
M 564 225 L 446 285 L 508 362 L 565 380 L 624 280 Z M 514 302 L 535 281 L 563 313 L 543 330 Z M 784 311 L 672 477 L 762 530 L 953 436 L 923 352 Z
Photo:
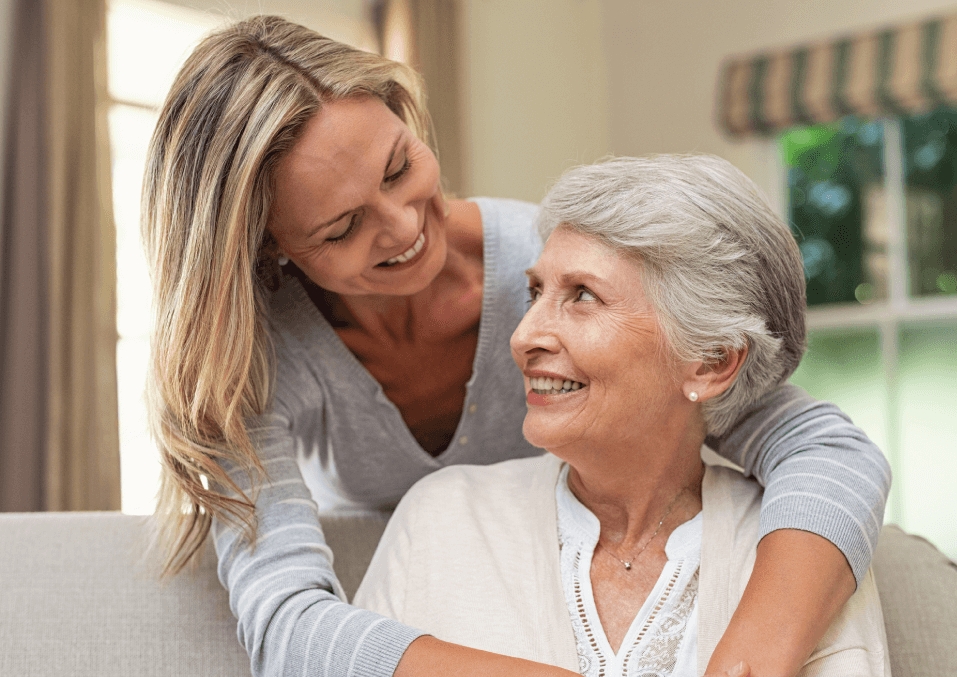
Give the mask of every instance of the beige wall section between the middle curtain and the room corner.
M 537 202 L 609 151 L 600 0 L 462 0 L 472 195 Z

